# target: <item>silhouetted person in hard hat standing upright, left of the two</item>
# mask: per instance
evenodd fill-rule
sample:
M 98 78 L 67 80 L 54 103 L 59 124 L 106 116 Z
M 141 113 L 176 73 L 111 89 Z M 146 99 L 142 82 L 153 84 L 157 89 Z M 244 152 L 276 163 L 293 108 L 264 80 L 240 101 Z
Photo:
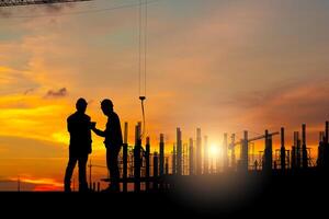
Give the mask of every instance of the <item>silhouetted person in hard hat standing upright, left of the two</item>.
M 65 192 L 70 192 L 71 177 L 77 162 L 79 163 L 79 192 L 88 191 L 86 168 L 88 155 L 91 153 L 91 122 L 86 115 L 87 101 L 79 99 L 77 112 L 67 118 L 67 129 L 70 134 L 69 161 L 65 173 Z

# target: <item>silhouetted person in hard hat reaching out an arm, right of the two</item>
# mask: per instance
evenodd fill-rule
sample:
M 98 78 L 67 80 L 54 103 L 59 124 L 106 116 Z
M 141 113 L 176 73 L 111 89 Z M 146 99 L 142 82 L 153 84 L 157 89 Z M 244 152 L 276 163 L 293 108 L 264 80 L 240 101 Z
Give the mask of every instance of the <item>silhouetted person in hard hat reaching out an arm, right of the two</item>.
M 121 123 L 117 114 L 113 111 L 113 103 L 105 99 L 101 103 L 103 114 L 107 116 L 107 124 L 105 130 L 99 130 L 93 124 L 92 130 L 101 137 L 104 137 L 104 145 L 106 148 L 106 165 L 111 175 L 111 184 L 104 192 L 120 192 L 120 171 L 117 157 L 123 146 Z

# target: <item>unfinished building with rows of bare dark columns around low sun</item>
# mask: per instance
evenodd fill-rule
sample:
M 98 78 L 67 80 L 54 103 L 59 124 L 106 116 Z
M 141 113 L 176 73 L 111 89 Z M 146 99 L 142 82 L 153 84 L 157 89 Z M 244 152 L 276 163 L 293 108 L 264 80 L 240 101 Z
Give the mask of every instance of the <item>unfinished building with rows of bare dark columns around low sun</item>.
M 125 123 L 124 147 L 120 158 L 122 192 L 170 189 L 182 178 L 219 177 L 232 173 L 285 175 L 306 171 L 327 171 L 329 168 L 328 124 L 326 122 L 325 131 L 319 134 L 316 159 L 310 155 L 311 150 L 307 147 L 306 140 L 306 124 L 303 124 L 302 135 L 299 131 L 294 131 L 291 147 L 285 143 L 284 128 L 274 132 L 264 130 L 263 135 L 252 138 L 249 138 L 249 132 L 246 130 L 240 140 L 236 140 L 236 134 L 232 134 L 230 142 L 228 134 L 224 134 L 223 143 L 218 146 L 222 153 L 214 160 L 209 158 L 207 136 L 202 137 L 200 128 L 196 129 L 195 140 L 186 138 L 188 142 L 184 143 L 183 131 L 177 128 L 173 145 L 167 145 L 164 135 L 160 134 L 159 145 L 151 147 L 149 137 L 146 137 L 143 146 L 141 123 L 138 123 L 135 126 L 135 145 L 128 146 L 128 124 Z M 275 137 L 280 138 L 280 149 L 273 150 Z M 254 158 L 256 141 L 263 141 L 263 150 L 259 151 L 257 159 Z M 151 153 L 150 148 L 155 152 Z

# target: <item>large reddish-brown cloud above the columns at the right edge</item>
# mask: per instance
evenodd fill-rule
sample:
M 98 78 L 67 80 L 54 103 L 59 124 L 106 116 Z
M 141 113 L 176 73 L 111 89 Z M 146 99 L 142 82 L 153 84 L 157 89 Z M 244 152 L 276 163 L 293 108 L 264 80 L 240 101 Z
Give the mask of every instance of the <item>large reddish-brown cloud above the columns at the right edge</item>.
M 299 127 L 302 123 L 318 126 L 328 117 L 329 79 L 308 78 L 262 91 L 237 94 L 227 105 L 243 108 L 241 123 L 280 127 Z

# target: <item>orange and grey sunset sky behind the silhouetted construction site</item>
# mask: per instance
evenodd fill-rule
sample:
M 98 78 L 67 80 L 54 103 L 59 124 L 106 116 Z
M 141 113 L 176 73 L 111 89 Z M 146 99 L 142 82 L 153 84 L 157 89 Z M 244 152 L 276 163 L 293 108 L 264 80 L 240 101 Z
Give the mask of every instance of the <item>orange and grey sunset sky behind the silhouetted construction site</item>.
M 100 101 L 112 99 L 122 123 L 129 122 L 133 143 L 133 126 L 141 119 L 139 9 L 121 7 L 136 3 L 0 9 L 0 189 L 18 176 L 25 189 L 61 189 L 66 118 L 80 96 L 99 128 L 106 122 Z M 201 127 L 220 143 L 224 131 L 254 136 L 284 126 L 290 146 L 306 123 L 316 149 L 329 119 L 328 21 L 327 0 L 149 3 L 146 119 L 152 143 L 163 132 L 171 149 L 177 127 L 186 142 Z M 92 159 L 104 165 L 102 139 L 93 139 Z

